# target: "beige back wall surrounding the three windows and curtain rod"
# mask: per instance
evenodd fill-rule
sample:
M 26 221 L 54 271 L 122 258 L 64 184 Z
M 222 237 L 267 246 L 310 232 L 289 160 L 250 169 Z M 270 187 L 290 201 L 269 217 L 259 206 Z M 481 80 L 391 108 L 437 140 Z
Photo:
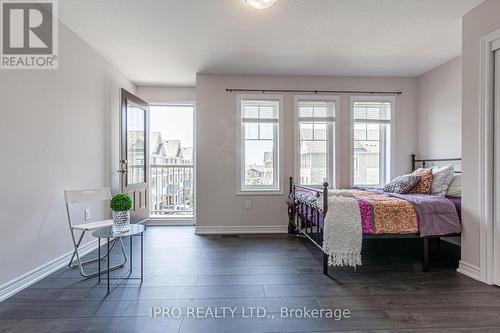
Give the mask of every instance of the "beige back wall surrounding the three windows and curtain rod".
M 401 90 L 396 100 L 395 174 L 410 170 L 416 150 L 417 80 L 415 78 L 291 77 L 203 75 L 196 80 L 197 103 L 197 226 L 287 225 L 282 196 L 236 195 L 236 94 L 226 88 Z M 284 100 L 284 169 L 293 174 L 293 95 Z M 349 96 L 341 97 L 341 186 L 349 185 Z M 285 193 L 286 181 L 282 184 Z M 245 209 L 252 200 L 252 209 Z

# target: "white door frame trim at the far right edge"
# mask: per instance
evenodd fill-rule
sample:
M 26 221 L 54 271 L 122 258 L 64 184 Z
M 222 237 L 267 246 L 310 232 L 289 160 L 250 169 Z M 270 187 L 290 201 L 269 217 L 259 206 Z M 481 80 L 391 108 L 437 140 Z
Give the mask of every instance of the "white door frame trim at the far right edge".
M 500 213 L 495 212 L 495 49 L 500 46 L 500 29 L 481 38 L 480 41 L 480 267 L 479 276 L 473 276 L 487 284 L 500 283 L 500 267 L 495 268 L 495 230 L 500 230 Z M 498 244 L 497 246 L 500 246 Z M 461 262 L 462 263 L 462 262 Z M 460 270 L 460 269 L 459 269 Z M 495 272 L 497 270 L 497 272 Z

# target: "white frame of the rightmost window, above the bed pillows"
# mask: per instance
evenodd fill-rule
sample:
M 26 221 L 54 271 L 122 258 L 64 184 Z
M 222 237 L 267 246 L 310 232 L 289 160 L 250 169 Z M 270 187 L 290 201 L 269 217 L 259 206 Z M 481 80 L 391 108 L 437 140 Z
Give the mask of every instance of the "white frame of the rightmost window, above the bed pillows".
M 380 168 L 380 182 L 379 185 L 363 185 L 356 184 L 356 186 L 363 187 L 380 187 L 389 182 L 392 178 L 394 178 L 394 170 L 396 165 L 396 96 L 350 96 L 349 98 L 349 113 L 350 113 L 350 133 L 349 133 L 349 173 L 350 173 L 350 185 L 354 186 L 354 103 L 355 102 L 389 102 L 391 103 L 391 120 L 389 124 L 391 126 L 391 142 L 390 142 L 390 165 L 389 165 L 389 178 L 386 179 L 387 172 L 385 171 L 386 163 L 380 163 L 380 165 L 384 165 L 384 169 Z M 385 153 L 385 152 L 384 152 Z M 384 153 L 381 152 L 380 158 L 381 160 L 385 160 Z

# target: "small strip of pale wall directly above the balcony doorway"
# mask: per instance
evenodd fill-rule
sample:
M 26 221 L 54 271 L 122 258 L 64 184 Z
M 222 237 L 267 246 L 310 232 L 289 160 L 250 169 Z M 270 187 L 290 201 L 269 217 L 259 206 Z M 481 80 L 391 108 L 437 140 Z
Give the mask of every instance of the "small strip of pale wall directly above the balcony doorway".
M 137 95 L 149 103 L 194 102 L 195 87 L 138 86 Z

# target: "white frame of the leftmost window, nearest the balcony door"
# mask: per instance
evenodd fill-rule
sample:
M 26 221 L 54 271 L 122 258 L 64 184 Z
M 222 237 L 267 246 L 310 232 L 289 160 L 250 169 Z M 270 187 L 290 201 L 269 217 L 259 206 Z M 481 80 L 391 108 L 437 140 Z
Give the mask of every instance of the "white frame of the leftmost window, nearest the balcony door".
M 245 184 L 245 138 L 241 122 L 241 102 L 243 100 L 278 101 L 278 142 L 274 141 L 278 161 L 274 163 L 273 177 L 276 185 L 244 186 Z M 236 195 L 283 195 L 283 163 L 284 163 L 284 98 L 283 95 L 271 94 L 238 94 L 236 95 Z

